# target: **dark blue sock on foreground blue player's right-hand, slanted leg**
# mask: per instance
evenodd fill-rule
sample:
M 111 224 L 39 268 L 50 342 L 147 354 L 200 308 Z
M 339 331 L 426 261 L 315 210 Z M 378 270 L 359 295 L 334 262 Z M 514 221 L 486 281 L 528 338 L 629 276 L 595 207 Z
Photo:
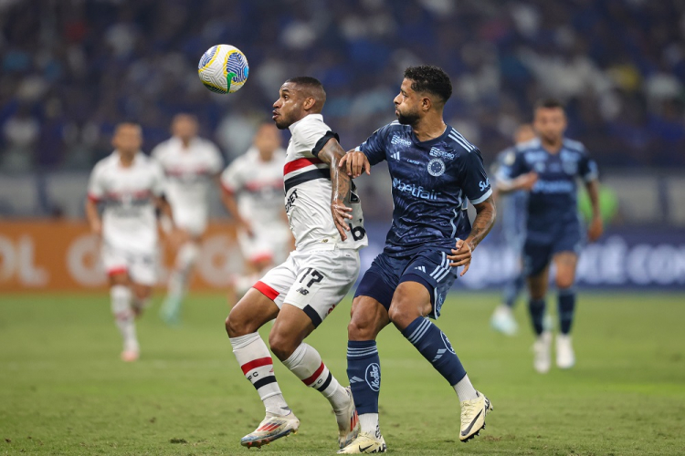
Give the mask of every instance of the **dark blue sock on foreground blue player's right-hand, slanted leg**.
M 449 339 L 430 320 L 419 316 L 406 326 L 402 335 L 426 358 L 433 368 L 448 380 L 450 385 L 456 385 L 466 376 L 466 370 L 449 343 Z

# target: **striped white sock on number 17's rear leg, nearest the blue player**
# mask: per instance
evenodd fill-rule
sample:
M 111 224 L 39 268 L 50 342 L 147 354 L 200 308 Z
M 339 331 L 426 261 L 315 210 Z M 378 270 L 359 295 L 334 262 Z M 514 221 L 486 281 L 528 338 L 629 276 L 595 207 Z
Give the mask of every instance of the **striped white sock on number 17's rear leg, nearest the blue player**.
M 340 411 L 347 407 L 350 396 L 338 383 L 330 370 L 321 361 L 321 355 L 314 347 L 307 344 L 300 344 L 290 355 L 290 358 L 283 361 L 283 365 L 290 369 L 302 383 L 308 387 L 318 389 L 321 394 L 331 402 L 334 411 Z

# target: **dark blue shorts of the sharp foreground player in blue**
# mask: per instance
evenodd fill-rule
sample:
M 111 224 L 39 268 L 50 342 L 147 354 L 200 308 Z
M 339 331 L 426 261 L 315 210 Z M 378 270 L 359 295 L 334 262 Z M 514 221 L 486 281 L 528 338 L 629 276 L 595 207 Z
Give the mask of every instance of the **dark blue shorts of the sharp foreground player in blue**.
M 379 254 L 364 273 L 354 297 L 369 296 L 390 309 L 395 289 L 403 282 L 417 282 L 424 285 L 430 295 L 433 310 L 431 318 L 440 316 L 449 288 L 457 279 L 457 268 L 449 266 L 449 249 L 427 246 L 407 256 Z

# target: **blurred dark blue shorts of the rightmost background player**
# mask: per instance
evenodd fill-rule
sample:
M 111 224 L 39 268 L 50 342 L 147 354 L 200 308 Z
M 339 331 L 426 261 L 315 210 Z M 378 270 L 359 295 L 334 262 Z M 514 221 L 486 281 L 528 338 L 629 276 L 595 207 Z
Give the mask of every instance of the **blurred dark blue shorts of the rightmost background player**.
M 555 254 L 580 254 L 585 237 L 580 222 L 553 226 L 549 233 L 528 233 L 523 244 L 523 272 L 526 276 L 539 275 Z

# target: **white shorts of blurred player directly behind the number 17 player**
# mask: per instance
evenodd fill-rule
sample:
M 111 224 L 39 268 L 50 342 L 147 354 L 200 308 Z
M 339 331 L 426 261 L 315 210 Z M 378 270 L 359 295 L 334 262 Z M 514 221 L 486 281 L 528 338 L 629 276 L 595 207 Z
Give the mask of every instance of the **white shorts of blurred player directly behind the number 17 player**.
M 271 260 L 281 263 L 290 253 L 292 234 L 285 223 L 273 223 L 269 226 L 253 226 L 253 236 L 239 231 L 237 243 L 243 257 L 250 263 Z

